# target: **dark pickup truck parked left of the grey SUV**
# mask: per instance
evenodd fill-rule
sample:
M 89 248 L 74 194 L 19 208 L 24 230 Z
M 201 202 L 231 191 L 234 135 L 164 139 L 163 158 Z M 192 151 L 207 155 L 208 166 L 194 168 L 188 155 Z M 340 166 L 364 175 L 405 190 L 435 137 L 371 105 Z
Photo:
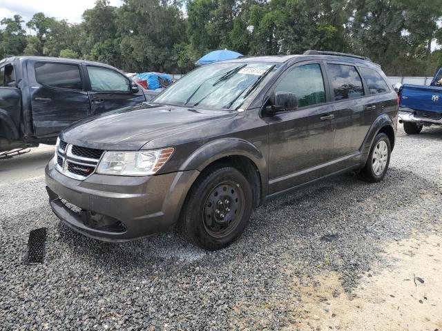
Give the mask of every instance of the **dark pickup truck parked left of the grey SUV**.
M 142 101 L 146 96 L 137 83 L 103 63 L 50 57 L 3 59 L 0 154 L 54 144 L 59 132 L 79 119 Z

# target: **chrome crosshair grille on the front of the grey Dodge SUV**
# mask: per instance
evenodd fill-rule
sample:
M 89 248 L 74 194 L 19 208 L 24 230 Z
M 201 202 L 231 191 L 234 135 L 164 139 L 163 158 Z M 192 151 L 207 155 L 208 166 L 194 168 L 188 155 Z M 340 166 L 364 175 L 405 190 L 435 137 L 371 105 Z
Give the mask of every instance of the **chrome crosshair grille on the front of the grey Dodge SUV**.
M 104 150 L 71 145 L 60 141 L 57 150 L 57 170 L 67 177 L 84 180 L 97 168 Z

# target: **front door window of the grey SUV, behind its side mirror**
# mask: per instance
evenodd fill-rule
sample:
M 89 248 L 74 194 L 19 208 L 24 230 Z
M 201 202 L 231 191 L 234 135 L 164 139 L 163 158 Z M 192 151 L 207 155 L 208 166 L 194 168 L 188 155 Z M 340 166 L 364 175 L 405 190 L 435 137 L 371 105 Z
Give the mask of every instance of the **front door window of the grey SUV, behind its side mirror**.
M 299 107 L 324 103 L 325 88 L 320 65 L 306 64 L 289 69 L 276 85 L 275 92 L 295 93 L 299 99 Z

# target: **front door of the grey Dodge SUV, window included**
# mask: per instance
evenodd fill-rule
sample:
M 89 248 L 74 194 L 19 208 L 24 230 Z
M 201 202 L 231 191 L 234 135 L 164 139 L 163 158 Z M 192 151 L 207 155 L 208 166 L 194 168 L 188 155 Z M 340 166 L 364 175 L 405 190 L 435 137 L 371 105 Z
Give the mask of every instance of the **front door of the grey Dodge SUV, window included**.
M 298 109 L 278 112 L 269 121 L 269 193 L 321 177 L 334 156 L 334 110 L 327 104 L 322 63 L 291 66 L 271 95 L 275 92 L 296 94 Z

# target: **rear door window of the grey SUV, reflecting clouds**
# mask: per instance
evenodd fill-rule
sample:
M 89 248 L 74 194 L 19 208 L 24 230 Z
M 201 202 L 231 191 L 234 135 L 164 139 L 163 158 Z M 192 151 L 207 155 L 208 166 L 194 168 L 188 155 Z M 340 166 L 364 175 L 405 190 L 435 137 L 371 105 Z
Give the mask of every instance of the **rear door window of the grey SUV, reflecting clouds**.
M 335 101 L 364 95 L 361 77 L 354 66 L 327 64 L 327 75 L 332 83 Z

